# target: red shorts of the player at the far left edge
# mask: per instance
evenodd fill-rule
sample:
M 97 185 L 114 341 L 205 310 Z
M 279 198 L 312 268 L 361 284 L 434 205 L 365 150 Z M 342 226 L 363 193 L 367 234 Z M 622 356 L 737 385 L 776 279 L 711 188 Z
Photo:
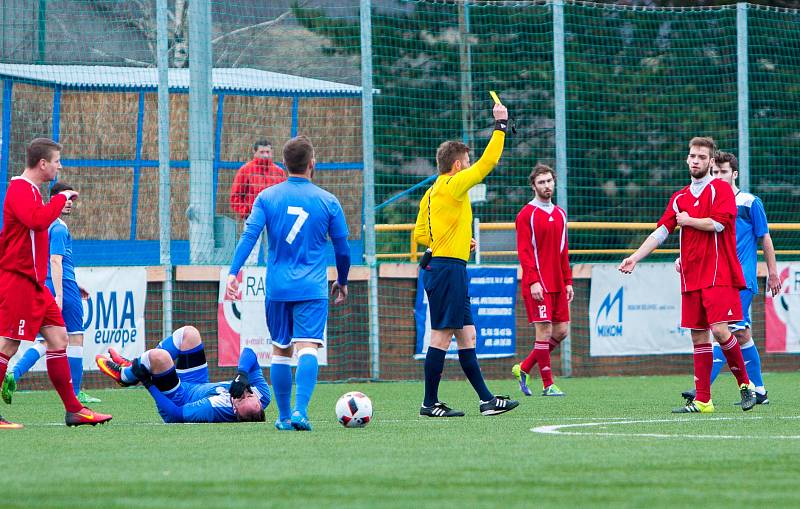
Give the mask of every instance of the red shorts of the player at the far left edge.
M 66 327 L 50 291 L 16 272 L 0 271 L 0 336 L 33 341 L 47 326 Z

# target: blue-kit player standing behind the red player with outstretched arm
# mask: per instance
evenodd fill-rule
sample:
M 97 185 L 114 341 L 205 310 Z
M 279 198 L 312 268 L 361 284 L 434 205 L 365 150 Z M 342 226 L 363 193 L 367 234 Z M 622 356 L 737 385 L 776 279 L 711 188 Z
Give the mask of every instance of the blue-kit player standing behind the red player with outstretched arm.
M 753 296 L 758 293 L 758 240 L 764 249 L 764 260 L 767 262 L 767 288 L 775 295 L 781 289 L 781 281 L 778 278 L 778 268 L 775 261 L 775 247 L 772 245 L 772 237 L 769 235 L 767 227 L 767 214 L 764 212 L 764 204 L 761 199 L 750 193 L 742 192 L 736 187 L 736 178 L 739 176 L 739 161 L 730 152 L 720 152 L 715 158 L 716 166 L 711 169 L 711 174 L 722 179 L 733 188 L 736 195 L 736 256 L 742 264 L 747 288 L 739 292 L 742 301 L 743 320 L 731 325 L 731 331 L 736 336 L 742 349 L 747 376 L 756 386 L 756 403 L 759 405 L 769 404 L 767 390 L 764 387 L 764 378 L 761 376 L 761 358 L 758 349 L 753 342 L 750 333 L 750 304 Z M 714 364 L 711 371 L 711 383 L 719 375 L 722 366 L 725 365 L 725 356 L 722 348 L 714 344 Z M 683 393 L 685 398 L 694 396 L 694 391 Z

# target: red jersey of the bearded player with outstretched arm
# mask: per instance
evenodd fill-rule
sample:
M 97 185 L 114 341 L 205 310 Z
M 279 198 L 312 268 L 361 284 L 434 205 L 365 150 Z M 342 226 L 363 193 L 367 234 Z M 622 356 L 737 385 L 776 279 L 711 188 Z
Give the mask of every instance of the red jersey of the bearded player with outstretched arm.
M 712 286 L 745 288 L 742 266 L 736 257 L 736 198 L 731 186 L 710 175 L 676 192 L 669 199 L 658 226 L 672 232 L 678 212 L 721 224 L 721 232 L 681 227 L 681 292 Z

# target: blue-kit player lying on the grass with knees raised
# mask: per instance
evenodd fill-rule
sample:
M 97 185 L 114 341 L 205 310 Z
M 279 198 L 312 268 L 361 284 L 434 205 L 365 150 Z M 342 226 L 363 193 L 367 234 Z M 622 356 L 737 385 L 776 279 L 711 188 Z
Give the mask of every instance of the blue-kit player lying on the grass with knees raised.
M 98 355 L 97 366 L 123 387 L 141 382 L 164 422 L 263 422 L 269 385 L 250 348 L 239 356 L 232 381 L 209 382 L 200 332 L 185 326 L 132 362 L 113 349 Z

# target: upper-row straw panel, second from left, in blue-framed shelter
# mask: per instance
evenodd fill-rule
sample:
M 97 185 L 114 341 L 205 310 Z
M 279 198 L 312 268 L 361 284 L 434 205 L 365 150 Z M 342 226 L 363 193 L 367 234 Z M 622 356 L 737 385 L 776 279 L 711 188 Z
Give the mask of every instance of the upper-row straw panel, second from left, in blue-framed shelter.
M 69 158 L 136 157 L 139 94 L 135 92 L 61 93 L 60 141 Z

